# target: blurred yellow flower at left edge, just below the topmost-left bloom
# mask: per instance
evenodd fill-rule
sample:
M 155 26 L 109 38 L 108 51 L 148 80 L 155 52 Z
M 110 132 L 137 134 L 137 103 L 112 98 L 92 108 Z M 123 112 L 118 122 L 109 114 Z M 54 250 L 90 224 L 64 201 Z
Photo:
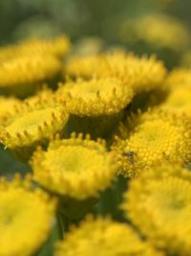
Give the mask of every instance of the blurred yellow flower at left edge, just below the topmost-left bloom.
M 32 55 L 0 62 L 0 88 L 17 94 L 33 91 L 39 81 L 53 79 L 61 61 L 49 55 Z

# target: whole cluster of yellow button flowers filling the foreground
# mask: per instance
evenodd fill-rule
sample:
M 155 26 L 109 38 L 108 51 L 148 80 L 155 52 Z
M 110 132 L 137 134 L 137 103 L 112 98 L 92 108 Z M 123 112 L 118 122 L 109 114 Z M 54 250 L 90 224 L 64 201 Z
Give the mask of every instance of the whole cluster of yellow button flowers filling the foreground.
M 0 48 L 0 142 L 32 169 L 0 179 L 0 255 L 37 255 L 56 220 L 55 256 L 191 255 L 191 70 L 70 46 Z M 97 210 L 118 176 L 123 221 Z

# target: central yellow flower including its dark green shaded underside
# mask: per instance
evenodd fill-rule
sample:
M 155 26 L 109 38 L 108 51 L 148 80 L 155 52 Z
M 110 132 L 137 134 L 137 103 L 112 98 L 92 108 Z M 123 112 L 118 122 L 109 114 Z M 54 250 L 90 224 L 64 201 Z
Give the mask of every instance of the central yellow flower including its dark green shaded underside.
M 72 114 L 69 131 L 108 137 L 121 120 L 122 110 L 131 103 L 133 90 L 115 78 L 68 81 L 60 84 L 57 98 L 66 101 Z

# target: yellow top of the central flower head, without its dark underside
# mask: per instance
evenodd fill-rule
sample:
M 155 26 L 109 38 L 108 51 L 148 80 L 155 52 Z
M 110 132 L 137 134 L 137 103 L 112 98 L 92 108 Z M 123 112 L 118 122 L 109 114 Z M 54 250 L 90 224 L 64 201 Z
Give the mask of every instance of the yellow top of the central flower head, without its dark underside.
M 81 117 L 118 113 L 133 99 L 132 87 L 115 78 L 68 81 L 60 85 L 58 98 L 67 101 L 70 112 Z

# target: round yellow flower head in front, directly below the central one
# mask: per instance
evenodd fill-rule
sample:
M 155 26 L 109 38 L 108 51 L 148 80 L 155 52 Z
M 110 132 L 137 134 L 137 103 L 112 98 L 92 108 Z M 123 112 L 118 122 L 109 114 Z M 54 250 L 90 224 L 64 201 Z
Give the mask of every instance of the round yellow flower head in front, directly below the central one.
M 47 190 L 83 200 L 98 197 L 111 184 L 117 169 L 114 161 L 104 141 L 73 134 L 70 139 L 52 141 L 48 151 L 35 151 L 31 165 L 34 179 Z

